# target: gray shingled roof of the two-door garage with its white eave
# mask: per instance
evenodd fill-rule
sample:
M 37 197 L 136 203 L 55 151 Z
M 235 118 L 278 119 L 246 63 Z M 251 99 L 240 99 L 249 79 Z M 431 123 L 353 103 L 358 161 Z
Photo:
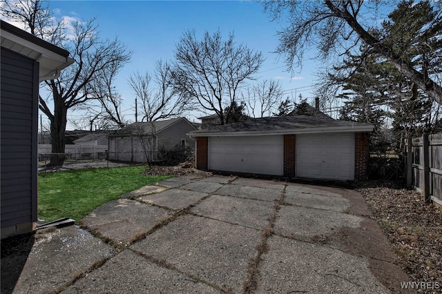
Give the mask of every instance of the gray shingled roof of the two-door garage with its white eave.
M 372 132 L 373 125 L 329 117 L 295 115 L 247 119 L 222 126 L 208 126 L 188 133 L 191 137 L 284 135 L 302 133 L 356 133 Z

